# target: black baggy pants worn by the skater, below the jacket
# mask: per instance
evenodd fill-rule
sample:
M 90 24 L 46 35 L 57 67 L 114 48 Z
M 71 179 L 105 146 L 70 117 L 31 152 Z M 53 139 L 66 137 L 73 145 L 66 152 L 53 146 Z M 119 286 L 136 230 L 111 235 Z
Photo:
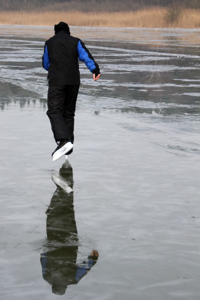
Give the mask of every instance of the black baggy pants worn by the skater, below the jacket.
M 74 115 L 79 85 L 49 86 L 46 112 L 56 142 L 74 141 Z

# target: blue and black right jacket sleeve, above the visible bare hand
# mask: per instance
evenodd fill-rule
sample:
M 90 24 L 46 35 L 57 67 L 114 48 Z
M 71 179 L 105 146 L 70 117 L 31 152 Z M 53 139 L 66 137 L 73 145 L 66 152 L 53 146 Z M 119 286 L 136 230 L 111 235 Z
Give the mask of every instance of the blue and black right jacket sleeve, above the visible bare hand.
M 94 61 L 94 58 L 92 57 L 91 53 L 85 47 L 84 43 L 81 40 L 79 40 L 78 42 L 77 51 L 79 60 L 85 62 L 86 66 L 88 67 L 91 73 L 94 73 L 96 70 L 99 70 L 98 64 Z

